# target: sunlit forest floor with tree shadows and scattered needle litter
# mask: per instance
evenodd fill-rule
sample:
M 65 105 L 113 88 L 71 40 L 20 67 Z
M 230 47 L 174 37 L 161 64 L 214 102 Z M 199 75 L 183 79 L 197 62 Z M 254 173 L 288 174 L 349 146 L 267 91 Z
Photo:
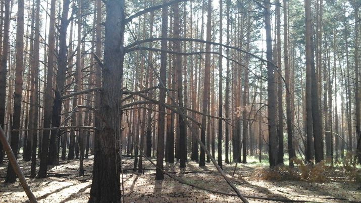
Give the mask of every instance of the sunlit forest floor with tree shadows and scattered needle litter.
M 85 176 L 79 177 L 79 160 L 65 160 L 60 166 L 48 171 L 43 179 L 30 178 L 31 162 L 18 160 L 26 179 L 38 202 L 87 202 L 91 187 L 93 159 L 84 160 Z M 237 196 L 217 194 L 181 184 L 165 175 L 164 181 L 155 181 L 155 167 L 143 161 L 144 173 L 133 172 L 133 160 L 123 158 L 123 180 L 125 202 L 240 202 Z M 196 162 L 187 162 L 180 171 L 179 162 L 165 165 L 167 172 L 189 184 L 226 193 L 234 193 L 212 163 L 198 167 Z M 347 178 L 329 178 L 324 183 L 306 181 L 263 180 L 267 166 L 258 163 L 224 164 L 224 171 L 242 195 L 266 197 L 249 198 L 249 202 L 361 202 L 360 183 Z M 6 184 L 7 161 L 0 165 L 0 202 L 25 202 L 26 194 L 20 182 Z

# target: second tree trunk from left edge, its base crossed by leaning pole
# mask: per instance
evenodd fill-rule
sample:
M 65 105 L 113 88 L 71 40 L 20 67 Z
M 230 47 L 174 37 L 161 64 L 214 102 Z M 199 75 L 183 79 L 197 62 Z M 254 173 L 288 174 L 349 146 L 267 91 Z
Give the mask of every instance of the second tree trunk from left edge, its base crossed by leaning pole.
M 15 70 L 15 91 L 13 106 L 13 122 L 11 126 L 11 148 L 15 158 L 18 158 L 19 134 L 20 131 L 13 131 L 20 128 L 21 118 L 21 96 L 23 92 L 23 64 L 24 64 L 24 0 L 18 1 L 18 13 L 16 24 L 16 70 Z M 9 162 L 5 182 L 13 183 L 16 181 L 16 174 L 13 166 Z

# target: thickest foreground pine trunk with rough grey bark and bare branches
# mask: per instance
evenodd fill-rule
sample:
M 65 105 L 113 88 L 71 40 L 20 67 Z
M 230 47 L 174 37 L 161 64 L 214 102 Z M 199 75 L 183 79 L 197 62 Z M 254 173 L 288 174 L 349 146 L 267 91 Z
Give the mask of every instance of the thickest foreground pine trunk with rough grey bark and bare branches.
M 120 202 L 119 145 L 124 62 L 124 0 L 106 2 L 105 48 L 99 113 L 98 147 L 94 156 L 90 202 Z

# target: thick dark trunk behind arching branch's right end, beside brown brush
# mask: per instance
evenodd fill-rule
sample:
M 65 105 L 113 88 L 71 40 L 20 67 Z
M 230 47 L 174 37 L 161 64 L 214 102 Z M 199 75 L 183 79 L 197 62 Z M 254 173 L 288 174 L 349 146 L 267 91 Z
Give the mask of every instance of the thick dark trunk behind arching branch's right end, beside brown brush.
M 269 162 L 270 168 L 273 168 L 277 164 L 277 97 L 275 86 L 275 65 L 273 64 L 272 54 L 272 36 L 271 36 L 271 12 L 270 12 L 270 0 L 267 0 L 265 6 L 265 29 L 266 29 L 266 55 L 267 60 L 267 91 L 268 91 L 268 130 L 269 130 Z

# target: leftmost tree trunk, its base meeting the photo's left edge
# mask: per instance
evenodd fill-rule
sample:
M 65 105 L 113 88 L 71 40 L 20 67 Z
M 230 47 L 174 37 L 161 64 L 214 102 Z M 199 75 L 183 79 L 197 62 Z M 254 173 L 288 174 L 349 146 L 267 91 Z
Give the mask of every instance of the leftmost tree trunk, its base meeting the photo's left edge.
M 3 31 L 3 50 L 0 62 L 0 126 L 5 129 L 5 110 L 6 110 L 6 78 L 7 63 L 9 52 L 9 24 L 10 24 L 10 2 L 4 1 L 4 31 Z M 9 94 L 10 95 L 10 94 Z M 3 163 L 3 145 L 0 144 L 0 164 Z

